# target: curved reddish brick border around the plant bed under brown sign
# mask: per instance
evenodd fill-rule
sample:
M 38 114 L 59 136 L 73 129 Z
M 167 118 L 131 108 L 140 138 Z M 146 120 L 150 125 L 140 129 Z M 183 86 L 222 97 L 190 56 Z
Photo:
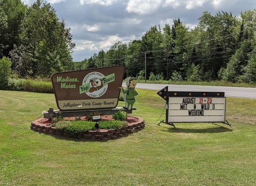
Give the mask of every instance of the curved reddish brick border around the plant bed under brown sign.
M 133 118 L 137 119 L 137 122 L 128 123 L 127 126 L 118 128 L 118 130 L 99 129 L 94 131 L 88 131 L 85 134 L 79 135 L 77 139 L 84 141 L 107 141 L 128 136 L 128 134 L 138 132 L 145 127 L 144 119 L 139 117 Z M 67 133 L 57 132 L 55 127 L 51 127 L 51 124 L 52 122 L 50 120 L 39 118 L 34 120 L 34 122 L 31 122 L 30 129 L 35 132 L 49 134 L 52 136 L 63 136 L 65 138 L 70 138 Z

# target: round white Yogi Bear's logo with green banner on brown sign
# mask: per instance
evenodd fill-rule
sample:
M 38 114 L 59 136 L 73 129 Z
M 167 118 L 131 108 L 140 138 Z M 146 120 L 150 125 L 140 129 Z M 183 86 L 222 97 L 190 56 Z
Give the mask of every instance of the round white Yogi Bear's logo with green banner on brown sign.
M 108 90 L 108 84 L 114 82 L 115 73 L 104 76 L 100 72 L 91 72 L 83 79 L 83 85 L 79 86 L 79 94 L 86 93 L 92 98 L 99 98 Z

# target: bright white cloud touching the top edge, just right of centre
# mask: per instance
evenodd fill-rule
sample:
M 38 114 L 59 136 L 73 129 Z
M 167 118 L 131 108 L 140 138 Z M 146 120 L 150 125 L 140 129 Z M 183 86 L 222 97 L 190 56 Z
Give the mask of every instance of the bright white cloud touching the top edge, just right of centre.
M 148 14 L 155 12 L 162 0 L 130 0 L 126 5 L 129 13 Z

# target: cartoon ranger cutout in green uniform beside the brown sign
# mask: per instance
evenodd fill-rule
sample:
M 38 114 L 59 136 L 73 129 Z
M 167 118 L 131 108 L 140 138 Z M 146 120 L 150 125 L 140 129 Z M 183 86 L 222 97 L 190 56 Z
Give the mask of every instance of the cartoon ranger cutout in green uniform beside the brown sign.
M 133 108 L 133 104 L 135 103 L 135 96 L 138 95 L 138 92 L 135 91 L 135 86 L 137 85 L 137 80 L 135 78 L 131 78 L 129 80 L 129 85 L 126 90 L 124 90 L 124 87 L 122 88 L 123 94 L 126 94 L 125 96 L 125 102 L 127 103 L 127 107 L 124 107 L 125 109 L 129 109 L 131 106 L 131 110 L 136 110 L 136 108 Z

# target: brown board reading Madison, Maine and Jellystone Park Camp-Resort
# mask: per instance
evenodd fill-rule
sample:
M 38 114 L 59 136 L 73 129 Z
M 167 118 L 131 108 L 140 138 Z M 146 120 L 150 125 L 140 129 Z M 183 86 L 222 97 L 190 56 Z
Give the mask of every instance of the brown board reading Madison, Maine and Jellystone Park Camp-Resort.
M 57 72 L 51 77 L 57 106 L 62 111 L 115 108 L 123 77 L 123 66 Z

